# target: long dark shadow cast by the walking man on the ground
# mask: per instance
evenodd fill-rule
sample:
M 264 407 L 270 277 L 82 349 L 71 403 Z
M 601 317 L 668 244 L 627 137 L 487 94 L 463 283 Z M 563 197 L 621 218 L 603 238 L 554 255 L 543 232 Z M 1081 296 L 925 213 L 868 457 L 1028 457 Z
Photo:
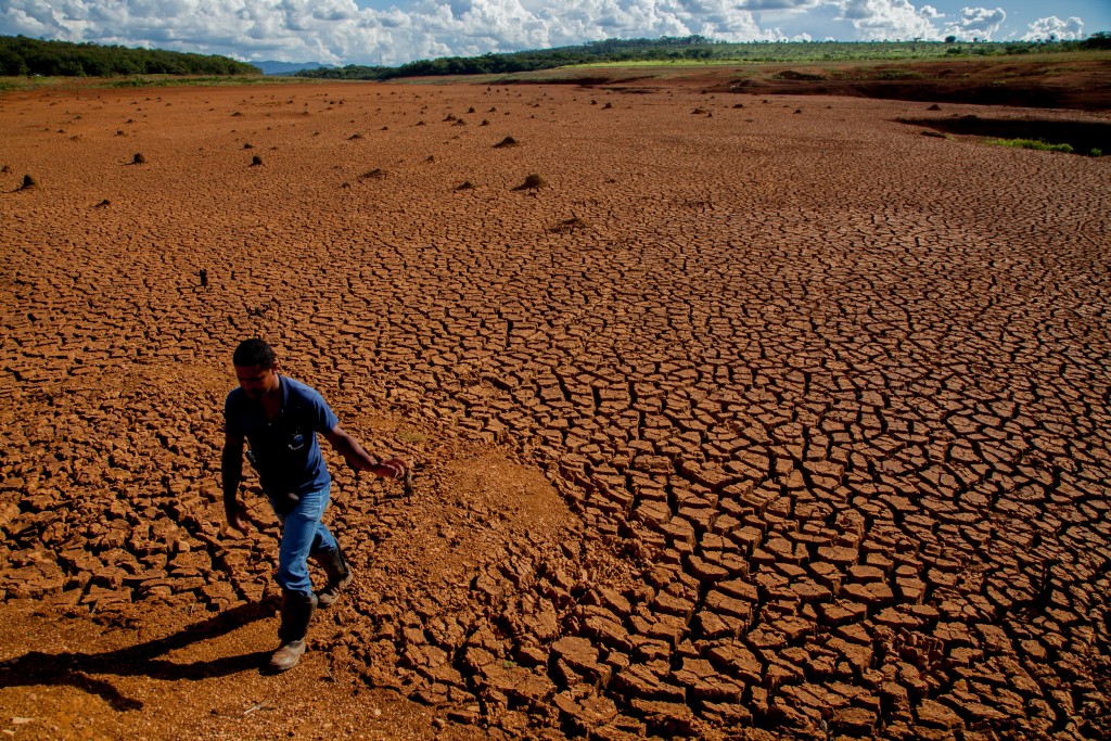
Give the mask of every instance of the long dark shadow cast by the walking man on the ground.
M 41 651 L 29 651 L 21 657 L 0 662 L 0 688 L 28 684 L 68 684 L 100 695 L 114 710 L 140 710 L 143 707 L 141 702 L 123 697 L 109 682 L 94 679 L 91 674 L 144 675 L 171 681 L 197 681 L 212 677 L 226 677 L 250 669 L 259 670 L 264 665 L 264 659 L 270 655 L 269 651 L 256 651 L 212 661 L 196 661 L 189 664 L 176 663 L 159 657 L 199 640 L 223 635 L 247 623 L 269 618 L 272 614 L 272 604 L 248 602 L 183 628 L 172 635 L 126 649 L 93 654 L 50 654 Z

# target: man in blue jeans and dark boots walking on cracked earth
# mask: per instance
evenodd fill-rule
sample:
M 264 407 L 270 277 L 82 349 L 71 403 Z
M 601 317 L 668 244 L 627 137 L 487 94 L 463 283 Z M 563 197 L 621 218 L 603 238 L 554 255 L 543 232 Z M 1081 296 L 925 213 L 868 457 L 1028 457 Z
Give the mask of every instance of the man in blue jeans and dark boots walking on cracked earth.
M 344 432 L 323 397 L 314 389 L 278 373 L 273 350 L 260 339 L 244 340 L 232 356 L 239 388 L 224 403 L 222 458 L 223 508 L 228 524 L 246 531 L 246 510 L 238 499 L 247 458 L 281 523 L 278 584 L 282 590 L 280 648 L 270 659 L 274 671 L 291 669 L 304 653 L 304 637 L 317 607 L 327 608 L 352 579 L 339 543 L 321 522 L 328 507 L 331 474 L 320 452 L 323 434 L 348 465 L 382 478 L 400 478 L 404 461 L 376 461 Z M 313 593 L 309 558 L 328 577 Z

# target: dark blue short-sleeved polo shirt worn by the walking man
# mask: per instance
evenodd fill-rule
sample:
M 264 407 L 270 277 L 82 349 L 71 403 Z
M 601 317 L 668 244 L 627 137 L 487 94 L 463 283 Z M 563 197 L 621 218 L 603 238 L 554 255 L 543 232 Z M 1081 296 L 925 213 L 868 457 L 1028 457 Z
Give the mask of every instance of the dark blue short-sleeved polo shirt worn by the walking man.
M 223 405 L 224 431 L 247 438 L 259 483 L 268 495 L 303 494 L 332 480 L 317 433 L 330 432 L 339 419 L 316 389 L 284 375 L 279 383 L 281 411 L 272 420 L 267 419 L 261 402 L 233 389 Z

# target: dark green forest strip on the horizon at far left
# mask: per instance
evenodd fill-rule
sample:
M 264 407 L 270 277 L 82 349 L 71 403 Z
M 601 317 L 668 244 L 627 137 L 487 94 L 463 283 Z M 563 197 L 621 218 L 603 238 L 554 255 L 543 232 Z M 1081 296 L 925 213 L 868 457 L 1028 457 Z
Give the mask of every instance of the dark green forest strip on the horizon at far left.
M 261 74 L 228 57 L 0 36 L 0 76 Z

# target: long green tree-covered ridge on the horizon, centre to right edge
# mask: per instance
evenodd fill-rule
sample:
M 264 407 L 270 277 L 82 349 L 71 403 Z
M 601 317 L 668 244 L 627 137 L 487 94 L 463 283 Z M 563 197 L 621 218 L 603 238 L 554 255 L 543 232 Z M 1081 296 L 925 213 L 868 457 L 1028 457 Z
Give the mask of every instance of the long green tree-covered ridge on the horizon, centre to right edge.
M 731 43 L 701 36 L 662 37 L 659 39 L 607 39 L 577 47 L 560 47 L 537 51 L 514 51 L 481 57 L 443 57 L 418 60 L 400 67 L 363 67 L 348 64 L 316 70 L 302 70 L 298 77 L 336 80 L 387 80 L 401 77 L 441 74 L 506 74 L 553 69 L 570 64 L 613 62 L 807 62 L 864 59 L 927 59 L 1024 54 L 1044 51 L 1111 49 L 1111 33 L 1101 31 L 1083 41 L 755 41 Z

